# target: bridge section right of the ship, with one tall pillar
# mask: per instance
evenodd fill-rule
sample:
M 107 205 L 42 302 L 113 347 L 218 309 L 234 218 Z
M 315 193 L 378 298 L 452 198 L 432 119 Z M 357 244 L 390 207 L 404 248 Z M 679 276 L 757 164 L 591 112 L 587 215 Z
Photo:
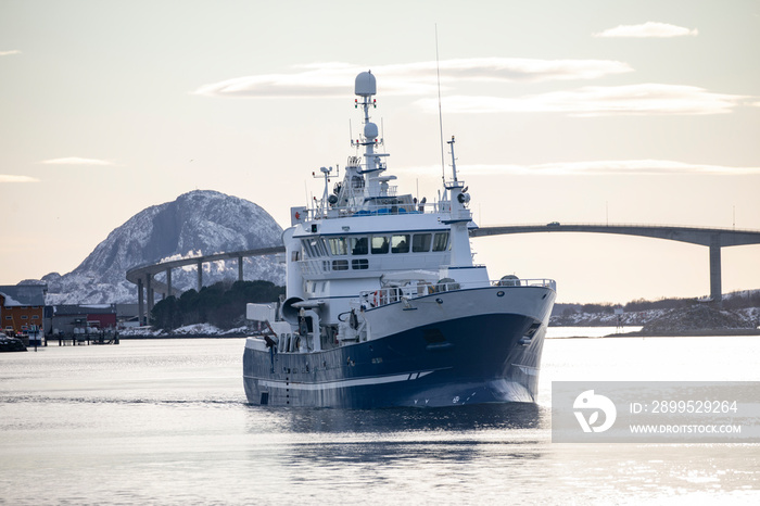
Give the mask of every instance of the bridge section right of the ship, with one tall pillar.
M 734 230 L 726 228 L 674 227 L 666 225 L 593 225 L 553 222 L 547 225 L 505 225 L 480 227 L 471 237 L 501 236 L 504 233 L 534 232 L 593 232 L 641 236 L 670 241 L 688 242 L 710 248 L 710 298 L 721 301 L 721 248 L 760 244 L 760 230 Z

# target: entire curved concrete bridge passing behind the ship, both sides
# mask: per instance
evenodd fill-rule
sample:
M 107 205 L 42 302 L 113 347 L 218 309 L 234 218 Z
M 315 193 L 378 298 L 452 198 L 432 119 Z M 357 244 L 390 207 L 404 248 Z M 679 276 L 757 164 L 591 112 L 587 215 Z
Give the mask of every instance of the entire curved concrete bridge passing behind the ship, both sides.
M 568 224 L 557 222 L 548 225 L 505 225 L 496 227 L 480 227 L 470 231 L 470 237 L 501 236 L 505 233 L 536 233 L 536 232 L 594 232 L 618 233 L 624 236 L 650 237 L 670 241 L 688 242 L 710 248 L 710 296 L 721 301 L 721 248 L 745 244 L 760 244 L 760 230 L 734 230 L 725 228 L 674 227 L 663 225 L 594 225 Z M 198 266 L 198 290 L 203 287 L 203 264 L 220 260 L 238 261 L 238 280 L 243 280 L 243 258 L 250 256 L 274 255 L 284 253 L 284 246 L 262 248 L 257 250 L 236 251 L 231 253 L 215 253 L 212 255 L 175 260 L 155 264 L 132 267 L 127 271 L 127 280 L 137 284 L 138 307 L 140 321 L 145 321 L 144 293 L 148 294 L 148 313 L 153 308 L 155 292 L 164 295 L 177 294 L 179 291 L 172 287 L 172 269 L 186 265 Z M 155 280 L 155 275 L 166 273 L 166 282 Z

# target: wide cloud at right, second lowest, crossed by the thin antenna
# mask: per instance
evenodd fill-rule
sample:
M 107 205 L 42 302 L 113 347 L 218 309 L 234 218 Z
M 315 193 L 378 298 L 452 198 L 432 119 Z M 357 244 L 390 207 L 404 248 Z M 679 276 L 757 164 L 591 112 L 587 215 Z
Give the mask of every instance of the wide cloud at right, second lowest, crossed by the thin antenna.
M 695 86 L 641 84 L 594 86 L 520 98 L 455 96 L 443 99 L 446 113 L 565 113 L 570 116 L 724 114 L 749 97 L 713 93 Z M 426 111 L 438 101 L 420 99 Z

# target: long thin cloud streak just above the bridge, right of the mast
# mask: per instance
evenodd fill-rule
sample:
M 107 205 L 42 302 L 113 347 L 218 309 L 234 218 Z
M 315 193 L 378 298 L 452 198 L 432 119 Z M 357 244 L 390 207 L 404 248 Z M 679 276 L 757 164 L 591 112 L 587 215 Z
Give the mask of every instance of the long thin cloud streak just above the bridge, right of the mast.
M 612 160 L 595 162 L 559 162 L 536 165 L 468 165 L 459 164 L 458 174 L 468 176 L 662 176 L 662 175 L 760 175 L 760 167 L 692 164 L 670 160 Z M 440 166 L 408 167 L 400 172 L 440 174 Z

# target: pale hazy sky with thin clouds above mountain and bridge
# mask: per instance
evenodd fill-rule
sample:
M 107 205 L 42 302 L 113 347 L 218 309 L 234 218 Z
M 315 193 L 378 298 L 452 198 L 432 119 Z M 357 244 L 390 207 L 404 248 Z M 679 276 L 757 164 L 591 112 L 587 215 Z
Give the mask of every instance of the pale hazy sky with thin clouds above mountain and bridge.
M 758 0 L 0 0 L 0 284 L 68 273 L 195 189 L 287 227 L 321 194 L 312 172 L 355 154 L 367 69 L 398 191 L 434 200 L 456 136 L 479 225 L 760 230 Z M 558 302 L 710 290 L 708 249 L 686 243 L 472 248 L 492 278 L 555 279 Z M 760 289 L 760 245 L 722 268 L 724 293 Z

